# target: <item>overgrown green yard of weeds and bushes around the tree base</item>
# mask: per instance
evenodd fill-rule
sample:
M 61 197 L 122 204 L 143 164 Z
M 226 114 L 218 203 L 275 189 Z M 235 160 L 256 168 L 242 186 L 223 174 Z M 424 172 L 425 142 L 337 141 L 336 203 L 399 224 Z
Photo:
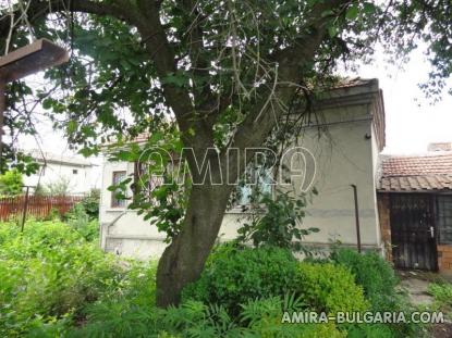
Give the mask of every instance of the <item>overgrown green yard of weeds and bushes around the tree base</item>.
M 414 324 L 286 324 L 286 311 L 403 311 L 408 303 L 388 263 L 339 250 L 296 261 L 280 248 L 217 247 L 179 308 L 155 308 L 156 262 L 98 249 L 97 222 L 78 216 L 0 224 L 2 337 L 414 337 Z M 433 285 L 450 311 L 451 286 Z M 430 309 L 431 310 L 431 309 Z M 438 336 L 441 337 L 441 336 Z

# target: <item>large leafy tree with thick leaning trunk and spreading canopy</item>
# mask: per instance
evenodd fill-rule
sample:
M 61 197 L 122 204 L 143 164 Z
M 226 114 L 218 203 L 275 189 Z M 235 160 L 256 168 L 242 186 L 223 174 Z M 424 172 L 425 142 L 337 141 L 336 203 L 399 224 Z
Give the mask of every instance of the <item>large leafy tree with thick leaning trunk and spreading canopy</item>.
M 161 306 L 178 303 L 199 276 L 233 189 L 227 183 L 246 164 L 237 154 L 278 135 L 298 98 L 330 83 L 338 61 L 367 60 L 378 41 L 399 57 L 423 40 L 435 66 L 430 93 L 452 71 L 448 0 L 17 0 L 1 11 L 3 50 L 30 32 L 72 50 L 69 65 L 47 72 L 50 90 L 10 88 L 10 133 L 34 133 L 28 108 L 39 101 L 85 154 L 147 132 L 154 142 L 175 137 L 193 149 L 185 158 L 193 183 L 211 160 L 212 181 L 222 184 L 190 189 L 159 261 Z

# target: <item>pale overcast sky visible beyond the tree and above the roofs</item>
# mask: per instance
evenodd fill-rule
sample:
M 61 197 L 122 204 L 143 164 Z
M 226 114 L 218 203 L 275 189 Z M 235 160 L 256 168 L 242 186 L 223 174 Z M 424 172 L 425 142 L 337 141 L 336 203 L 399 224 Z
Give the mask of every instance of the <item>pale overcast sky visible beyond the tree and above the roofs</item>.
M 378 52 L 374 63 L 364 65 L 347 76 L 376 77 L 383 90 L 386 108 L 387 147 L 384 153 L 406 154 L 424 152 L 429 142 L 452 141 L 452 97 L 444 93 L 441 102 L 430 105 L 418 84 L 425 82 L 429 63 L 422 50 L 413 52 L 411 61 L 398 70 Z M 57 154 L 69 154 L 68 142 L 61 132 L 41 123 L 41 148 Z M 20 139 L 22 148 L 37 148 L 32 137 Z M 96 161 L 97 162 L 97 161 Z

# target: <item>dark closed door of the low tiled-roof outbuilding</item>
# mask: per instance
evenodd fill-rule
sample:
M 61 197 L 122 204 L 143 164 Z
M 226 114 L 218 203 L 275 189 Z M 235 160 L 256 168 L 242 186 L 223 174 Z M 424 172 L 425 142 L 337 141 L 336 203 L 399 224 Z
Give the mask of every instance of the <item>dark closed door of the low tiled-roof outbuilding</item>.
M 438 270 L 433 201 L 430 195 L 391 195 L 391 241 L 395 267 Z

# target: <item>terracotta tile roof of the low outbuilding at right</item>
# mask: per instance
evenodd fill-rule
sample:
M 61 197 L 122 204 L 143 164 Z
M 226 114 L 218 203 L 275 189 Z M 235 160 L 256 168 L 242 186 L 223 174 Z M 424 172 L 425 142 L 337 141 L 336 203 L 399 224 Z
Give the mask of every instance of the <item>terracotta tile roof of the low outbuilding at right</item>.
M 452 153 L 383 160 L 379 191 L 452 190 Z

